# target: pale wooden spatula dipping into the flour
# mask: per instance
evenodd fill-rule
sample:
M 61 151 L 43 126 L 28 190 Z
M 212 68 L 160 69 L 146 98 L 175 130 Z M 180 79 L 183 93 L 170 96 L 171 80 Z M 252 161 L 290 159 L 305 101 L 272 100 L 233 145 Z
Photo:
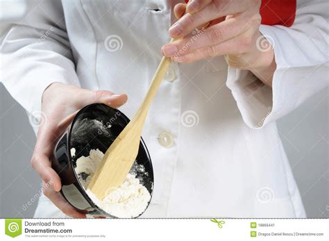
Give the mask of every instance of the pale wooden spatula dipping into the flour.
M 171 39 L 171 42 L 173 41 Z M 133 166 L 140 147 L 140 137 L 146 115 L 170 63 L 170 58 L 162 57 L 142 105 L 133 119 L 110 145 L 101 165 L 96 169 L 88 189 L 92 190 L 100 200 L 124 183 L 130 168 Z

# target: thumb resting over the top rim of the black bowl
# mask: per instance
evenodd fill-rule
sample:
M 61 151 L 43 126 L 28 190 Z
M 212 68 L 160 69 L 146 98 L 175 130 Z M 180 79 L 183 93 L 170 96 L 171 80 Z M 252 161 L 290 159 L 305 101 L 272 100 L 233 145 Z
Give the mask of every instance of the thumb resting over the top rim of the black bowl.
M 126 94 L 114 94 L 108 90 L 81 90 L 78 96 L 79 105 L 87 106 L 91 103 L 104 103 L 112 108 L 118 108 L 126 103 Z

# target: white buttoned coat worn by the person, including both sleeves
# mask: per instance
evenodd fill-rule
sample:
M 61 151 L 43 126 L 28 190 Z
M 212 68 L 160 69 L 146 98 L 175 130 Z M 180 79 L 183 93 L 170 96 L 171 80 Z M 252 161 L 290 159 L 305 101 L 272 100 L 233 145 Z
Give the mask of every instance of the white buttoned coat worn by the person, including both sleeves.
M 1 81 L 28 113 L 55 81 L 128 94 L 133 117 L 169 42 L 178 1 L 26 1 L 6 25 Z M 328 85 L 328 3 L 298 1 L 291 28 L 264 26 L 273 88 L 223 56 L 172 63 L 142 136 L 154 168 L 142 217 L 305 217 L 276 119 Z M 4 28 L 3 28 L 4 29 Z M 35 217 L 65 217 L 42 197 Z

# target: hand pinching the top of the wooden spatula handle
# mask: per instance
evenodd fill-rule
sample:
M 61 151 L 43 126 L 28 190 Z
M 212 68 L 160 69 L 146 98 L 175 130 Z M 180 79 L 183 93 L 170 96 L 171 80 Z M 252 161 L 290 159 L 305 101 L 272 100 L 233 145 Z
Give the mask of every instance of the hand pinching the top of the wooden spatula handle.
M 271 43 L 259 31 L 260 3 L 260 0 L 194 0 L 187 6 L 179 3 L 174 8 L 179 20 L 169 28 L 169 34 L 183 39 L 163 46 L 162 54 L 177 63 L 225 56 L 231 67 L 249 69 L 271 85 L 276 63 Z M 196 28 L 199 32 L 189 35 Z M 267 46 L 266 51 L 262 46 Z

